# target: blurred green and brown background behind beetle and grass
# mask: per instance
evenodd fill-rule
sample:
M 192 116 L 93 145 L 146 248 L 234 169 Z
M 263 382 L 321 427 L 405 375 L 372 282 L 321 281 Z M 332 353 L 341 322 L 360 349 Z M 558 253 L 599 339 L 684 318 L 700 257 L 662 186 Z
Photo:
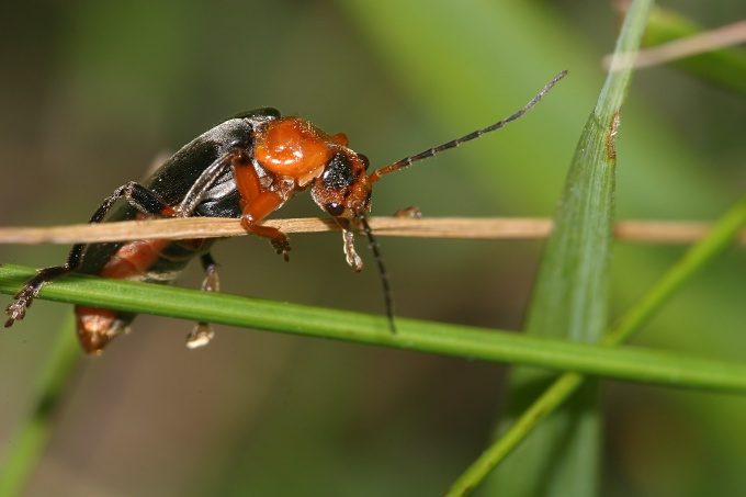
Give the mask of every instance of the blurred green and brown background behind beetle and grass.
M 671 2 L 674 3 L 674 2 Z M 3 2 L 1 225 L 87 219 L 114 188 L 223 117 L 262 105 L 344 132 L 374 167 L 461 136 L 569 77 L 498 134 L 387 177 L 373 213 L 551 215 L 619 23 L 607 2 Z M 743 2 L 681 1 L 704 26 Z M 744 190 L 743 95 L 667 68 L 641 71 L 619 134 L 622 218 L 710 219 Z M 298 195 L 282 216 L 316 216 Z M 397 314 L 519 329 L 536 241 L 381 238 Z M 214 251 L 227 293 L 382 312 L 377 274 L 346 266 L 337 235 Z M 49 266 L 67 247 L 0 247 Z M 682 248 L 619 245 L 621 312 Z M 746 350 L 746 257 L 734 250 L 637 342 L 728 360 Z M 182 279 L 201 281 L 199 264 Z M 5 297 L 8 302 L 10 297 Z M 4 304 L 3 304 L 4 305 Z M 70 309 L 38 302 L 0 334 L 0 456 Z M 505 368 L 140 317 L 81 361 L 26 495 L 439 495 L 481 452 Z M 746 489 L 746 399 L 603 384 L 606 496 Z

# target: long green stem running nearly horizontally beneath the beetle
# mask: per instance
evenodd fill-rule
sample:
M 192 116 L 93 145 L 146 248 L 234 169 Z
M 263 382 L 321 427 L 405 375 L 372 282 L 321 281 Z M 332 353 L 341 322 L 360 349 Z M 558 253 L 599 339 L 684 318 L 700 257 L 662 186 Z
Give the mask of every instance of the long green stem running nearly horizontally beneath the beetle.
M 0 267 L 0 293 L 14 293 L 33 274 L 31 268 Z M 397 334 L 393 335 L 385 316 L 77 274 L 45 285 L 39 298 L 634 382 L 746 392 L 744 364 L 643 348 L 611 348 L 404 318 L 397 319 Z M 25 319 L 33 319 L 34 313 L 43 310 L 39 307 L 34 304 Z M 23 325 L 16 323 L 5 332 L 22 332 Z M 137 323 L 134 328 L 136 334 Z

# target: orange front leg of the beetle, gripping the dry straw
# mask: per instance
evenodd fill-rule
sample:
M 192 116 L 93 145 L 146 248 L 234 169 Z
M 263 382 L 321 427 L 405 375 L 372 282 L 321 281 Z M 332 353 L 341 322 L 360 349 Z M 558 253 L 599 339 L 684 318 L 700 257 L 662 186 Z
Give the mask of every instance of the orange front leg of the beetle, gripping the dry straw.
M 287 235 L 278 228 L 261 225 L 268 215 L 285 203 L 285 199 L 275 191 L 262 188 L 257 170 L 248 156 L 234 161 L 234 178 L 236 189 L 241 195 L 244 210 L 241 226 L 249 233 L 269 238 L 274 250 L 287 260 L 287 251 L 290 251 Z

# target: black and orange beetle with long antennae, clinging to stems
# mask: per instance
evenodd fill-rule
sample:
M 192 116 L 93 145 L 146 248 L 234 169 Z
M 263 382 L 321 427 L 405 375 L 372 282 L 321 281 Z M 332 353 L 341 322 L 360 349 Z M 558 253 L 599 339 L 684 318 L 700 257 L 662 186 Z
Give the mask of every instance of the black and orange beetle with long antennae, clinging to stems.
M 144 183 L 129 182 L 117 188 L 93 213 L 90 223 L 192 216 L 240 218 L 248 233 L 268 238 L 287 260 L 291 248 L 287 236 L 262 221 L 295 193 L 309 189 L 316 204 L 340 227 L 346 259 L 354 271 L 360 271 L 363 262 L 355 252 L 351 228 L 362 227 L 378 266 L 386 315 L 395 331 L 388 275 L 366 217 L 373 183 L 519 118 L 565 75 L 566 71 L 557 75 L 509 117 L 371 173 L 368 158 L 348 147 L 344 134 L 326 134 L 304 118 L 282 116 L 271 108 L 244 112 L 183 146 Z M 120 199 L 126 202 L 112 211 Z M 214 241 L 201 238 L 77 244 L 63 266 L 41 269 L 25 282 L 5 310 L 10 316 L 5 327 L 23 319 L 45 283 L 69 273 L 168 284 L 199 257 L 206 273 L 202 289 L 217 291 L 216 264 L 210 255 Z M 131 313 L 80 305 L 75 312 L 80 343 L 94 354 L 125 332 L 135 318 Z M 213 335 L 208 324 L 200 323 L 188 336 L 187 344 L 201 347 Z

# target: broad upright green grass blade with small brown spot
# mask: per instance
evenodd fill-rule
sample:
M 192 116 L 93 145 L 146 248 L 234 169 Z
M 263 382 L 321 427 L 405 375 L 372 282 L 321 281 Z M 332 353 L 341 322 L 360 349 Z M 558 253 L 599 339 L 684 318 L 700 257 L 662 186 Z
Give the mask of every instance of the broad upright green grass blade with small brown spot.
M 638 49 L 651 1 L 631 4 L 615 54 Z M 606 328 L 615 189 L 615 135 L 631 68 L 611 71 L 580 136 L 555 228 L 546 241 L 525 332 L 596 342 Z M 521 416 L 550 384 L 545 372 L 511 373 L 506 422 Z M 598 492 L 598 385 L 586 383 L 506 459 L 490 479 L 496 495 L 594 496 Z M 517 441 L 516 441 L 517 443 Z

